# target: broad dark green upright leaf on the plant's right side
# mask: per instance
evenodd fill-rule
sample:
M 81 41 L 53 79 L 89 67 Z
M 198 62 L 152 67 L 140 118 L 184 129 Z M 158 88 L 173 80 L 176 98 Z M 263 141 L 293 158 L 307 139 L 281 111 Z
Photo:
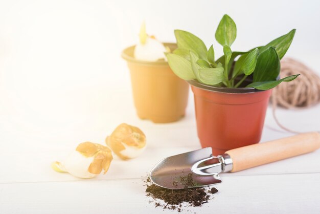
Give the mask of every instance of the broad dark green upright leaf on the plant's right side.
M 280 59 L 273 47 L 260 52 L 254 71 L 253 82 L 276 80 L 280 73 Z

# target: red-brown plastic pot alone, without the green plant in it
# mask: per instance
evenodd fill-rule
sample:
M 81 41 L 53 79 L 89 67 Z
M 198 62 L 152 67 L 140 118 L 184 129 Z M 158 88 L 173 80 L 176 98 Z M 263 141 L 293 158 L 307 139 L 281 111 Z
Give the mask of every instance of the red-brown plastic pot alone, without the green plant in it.
M 194 93 L 197 131 L 213 155 L 258 143 L 272 90 L 218 88 L 189 81 Z

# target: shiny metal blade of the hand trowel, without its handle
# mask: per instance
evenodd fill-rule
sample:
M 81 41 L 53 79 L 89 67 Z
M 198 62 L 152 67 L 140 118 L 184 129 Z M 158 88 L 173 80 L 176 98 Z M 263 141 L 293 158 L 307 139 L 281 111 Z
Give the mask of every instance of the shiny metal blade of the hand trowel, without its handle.
M 211 147 L 170 156 L 158 162 L 151 169 L 150 179 L 153 183 L 169 189 L 184 189 L 221 183 L 218 174 L 203 176 L 195 174 L 191 170 L 196 162 L 210 157 L 212 157 Z M 192 175 L 194 184 L 186 186 L 183 182 L 181 183 L 180 178 L 186 177 L 189 174 Z

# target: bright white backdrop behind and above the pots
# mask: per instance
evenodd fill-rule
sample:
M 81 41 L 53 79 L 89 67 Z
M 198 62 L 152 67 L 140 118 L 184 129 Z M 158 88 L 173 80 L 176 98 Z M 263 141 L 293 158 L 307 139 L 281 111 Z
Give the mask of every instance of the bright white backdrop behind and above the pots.
M 319 1 L 2 0 L 0 119 L 7 122 L 0 130 L 14 136 L 42 132 L 52 140 L 57 132 L 108 132 L 130 122 L 130 79 L 120 53 L 138 40 L 143 20 L 148 33 L 163 41 L 175 40 L 174 29 L 193 32 L 208 47 L 213 43 L 218 56 L 214 33 L 224 13 L 238 28 L 233 50 L 296 28 L 287 56 L 319 70 L 319 10 Z

